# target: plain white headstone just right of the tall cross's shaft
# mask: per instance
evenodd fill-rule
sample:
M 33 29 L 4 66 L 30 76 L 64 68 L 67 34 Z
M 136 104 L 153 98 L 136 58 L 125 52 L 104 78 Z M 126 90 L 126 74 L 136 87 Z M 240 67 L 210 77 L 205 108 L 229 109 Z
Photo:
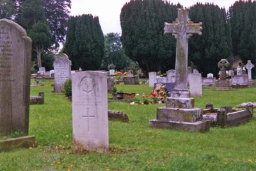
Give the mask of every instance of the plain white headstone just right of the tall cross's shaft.
M 189 92 L 191 96 L 202 96 L 202 77 L 200 73 L 189 74 Z

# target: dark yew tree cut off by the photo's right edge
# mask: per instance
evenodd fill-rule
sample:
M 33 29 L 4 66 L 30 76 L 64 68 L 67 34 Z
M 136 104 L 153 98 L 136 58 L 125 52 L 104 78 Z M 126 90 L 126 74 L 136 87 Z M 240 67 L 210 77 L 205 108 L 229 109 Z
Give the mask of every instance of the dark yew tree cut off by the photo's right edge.
M 235 56 L 243 63 L 256 59 L 256 1 L 236 1 L 228 11 Z

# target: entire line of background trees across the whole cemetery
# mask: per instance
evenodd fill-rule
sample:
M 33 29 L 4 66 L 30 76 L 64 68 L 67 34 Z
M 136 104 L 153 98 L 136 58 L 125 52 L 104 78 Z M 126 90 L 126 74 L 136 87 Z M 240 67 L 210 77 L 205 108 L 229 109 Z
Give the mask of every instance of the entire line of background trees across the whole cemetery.
M 132 61 L 145 73 L 175 68 L 176 40 L 171 34 L 163 34 L 163 27 L 164 22 L 177 18 L 181 4 L 131 0 L 120 13 L 122 36 L 118 33 L 103 36 L 97 17 L 69 16 L 70 0 L 2 0 L 0 3 L 0 18 L 14 20 L 27 30 L 33 39 L 34 60 L 40 62 L 42 53 L 43 66 L 48 70 L 60 43 L 65 43 L 63 52 L 70 56 L 76 70 L 78 66 L 84 70 L 106 70 L 109 64 L 119 70 Z M 227 13 L 211 3 L 191 6 L 189 17 L 193 22 L 202 22 L 203 30 L 202 36 L 193 35 L 189 39 L 189 63 L 193 62 L 204 76 L 217 75 L 217 63 L 223 58 L 231 62 L 237 56 L 244 63 L 248 59 L 255 63 L 255 15 L 256 2 L 251 0 L 236 1 Z M 67 28 L 70 34 L 65 40 Z

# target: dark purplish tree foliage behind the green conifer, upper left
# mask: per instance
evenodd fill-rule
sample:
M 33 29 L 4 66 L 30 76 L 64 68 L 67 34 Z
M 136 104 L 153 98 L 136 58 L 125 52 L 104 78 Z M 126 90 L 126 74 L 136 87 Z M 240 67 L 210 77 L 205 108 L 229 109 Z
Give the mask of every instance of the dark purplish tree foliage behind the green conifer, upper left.
M 4 11 L 8 11 L 12 18 L 6 17 L 8 19 L 12 19 L 20 26 L 26 27 L 22 22 L 22 9 L 24 8 L 25 1 L 28 0 L 1 0 L 4 2 L 8 2 L 6 5 L 0 6 L 0 17 L 1 8 L 6 9 Z M 31 5 L 36 1 L 31 1 Z M 42 0 L 42 5 L 44 7 L 45 17 L 50 27 L 50 31 L 52 34 L 52 45 L 58 48 L 60 47 L 60 43 L 65 42 L 65 35 L 67 33 L 67 21 L 69 18 L 71 1 L 70 0 Z M 5 15 L 6 16 L 6 15 Z M 30 17 L 28 15 L 28 17 Z M 1 17 L 3 18 L 3 17 Z

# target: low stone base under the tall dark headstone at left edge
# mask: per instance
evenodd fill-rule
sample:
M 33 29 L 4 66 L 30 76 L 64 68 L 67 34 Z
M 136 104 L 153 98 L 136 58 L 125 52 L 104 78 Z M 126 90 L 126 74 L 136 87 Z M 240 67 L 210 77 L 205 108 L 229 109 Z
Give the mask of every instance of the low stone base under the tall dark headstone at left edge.
M 9 138 L 7 140 L 0 140 L 0 152 L 9 151 L 17 148 L 35 147 L 35 136 L 25 136 L 18 138 Z

